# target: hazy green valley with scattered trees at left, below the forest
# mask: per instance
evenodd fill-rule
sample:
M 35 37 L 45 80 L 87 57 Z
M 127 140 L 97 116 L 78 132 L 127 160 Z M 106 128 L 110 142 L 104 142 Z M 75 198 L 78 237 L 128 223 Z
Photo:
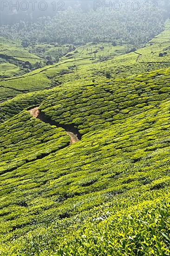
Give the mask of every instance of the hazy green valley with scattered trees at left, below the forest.
M 31 71 L 57 63 L 59 58 L 72 51 L 69 45 L 56 46 L 36 44 L 23 47 L 21 40 L 0 38 L 0 78 L 8 78 L 30 73 Z

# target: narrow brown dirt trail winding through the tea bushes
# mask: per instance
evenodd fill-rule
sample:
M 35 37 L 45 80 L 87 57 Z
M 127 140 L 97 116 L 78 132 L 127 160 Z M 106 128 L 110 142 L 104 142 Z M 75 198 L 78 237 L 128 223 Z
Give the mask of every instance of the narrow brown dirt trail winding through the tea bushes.
M 49 123 L 50 125 L 55 125 L 56 127 L 62 127 L 60 126 L 59 124 L 55 123 L 54 121 L 48 121 L 45 117 L 44 114 L 40 113 L 39 111 L 39 108 L 36 107 L 36 108 L 31 108 L 28 110 L 30 112 L 30 114 L 35 117 L 35 118 L 38 118 L 39 120 L 43 121 L 43 122 L 46 122 L 46 123 Z M 63 128 L 63 127 L 62 127 Z M 65 128 L 64 128 L 65 129 Z M 78 141 L 80 141 L 78 139 L 78 134 L 76 134 L 75 131 L 69 131 L 69 130 L 66 130 L 65 129 L 65 132 L 67 133 L 67 135 L 70 136 L 70 144 L 73 144 L 73 143 L 76 143 Z

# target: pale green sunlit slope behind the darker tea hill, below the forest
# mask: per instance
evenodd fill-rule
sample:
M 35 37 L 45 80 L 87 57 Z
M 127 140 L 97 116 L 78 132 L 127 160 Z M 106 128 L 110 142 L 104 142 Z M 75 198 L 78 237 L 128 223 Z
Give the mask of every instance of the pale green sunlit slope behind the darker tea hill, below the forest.
M 70 59 L 70 57 L 63 57 L 61 61 L 55 65 L 37 69 L 15 79 L 11 78 L 0 81 L 0 101 L 5 101 L 7 100 L 7 97 L 12 97 L 13 95 L 20 93 L 27 93 L 46 88 L 49 89 L 56 86 L 56 81 L 65 83 L 65 86 L 75 87 L 82 82 L 83 85 L 89 85 L 89 82 L 92 82 L 93 78 L 98 82 L 105 81 L 105 72 L 107 71 L 111 71 L 112 78 L 114 79 L 117 77 L 126 77 L 131 74 L 140 74 L 168 67 L 170 66 L 170 49 L 166 50 L 167 55 L 164 55 L 163 57 L 158 57 L 158 55 L 160 52 L 163 52 L 163 49 L 169 47 L 167 39 L 169 29 L 169 24 L 167 22 L 165 31 L 154 39 L 155 44 L 148 44 L 146 47 L 137 50 L 137 53 L 142 54 L 140 59 L 138 59 L 139 55 L 133 52 L 130 54 L 115 56 L 110 61 L 95 63 L 98 60 L 98 55 L 102 56 L 102 54 L 100 54 L 101 49 L 96 54 L 95 59 L 94 53 L 92 55 L 87 54 L 89 53 L 87 48 L 91 49 L 89 48 L 89 45 L 87 48 L 83 47 L 83 50 L 81 49 L 82 47 L 79 47 L 80 49 L 77 49 L 77 54 L 71 52 L 71 54 L 73 54 L 72 59 Z M 103 44 L 98 45 L 97 47 L 100 46 L 103 46 Z M 110 47 L 107 43 L 104 44 L 104 47 L 104 55 L 108 56 L 108 49 L 110 49 Z M 96 47 L 93 48 L 96 49 Z M 119 47 L 112 47 L 110 49 L 112 55 L 123 53 L 118 53 L 118 49 Z M 78 67 L 77 71 L 74 69 L 74 75 L 72 74 L 72 70 L 69 69 L 69 67 L 73 65 Z M 63 75 L 63 70 L 70 74 Z M 6 93 L 4 93 L 4 87 L 8 88 Z

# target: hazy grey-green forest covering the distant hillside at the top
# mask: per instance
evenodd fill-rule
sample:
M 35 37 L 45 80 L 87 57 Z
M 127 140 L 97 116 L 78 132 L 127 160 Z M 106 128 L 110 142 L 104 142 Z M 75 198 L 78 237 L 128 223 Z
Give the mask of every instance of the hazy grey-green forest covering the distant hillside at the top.
M 117 44 L 140 46 L 159 34 L 163 30 L 163 21 L 168 18 L 161 2 L 157 8 L 146 8 L 144 1 L 140 3 L 137 11 L 136 6 L 131 7 L 131 2 L 128 8 L 121 2 L 121 11 L 117 10 L 118 7 L 101 6 L 84 12 L 81 7 L 69 7 L 52 18 L 40 17 L 33 23 L 21 20 L 13 26 L 2 26 L 0 32 L 6 38 L 20 38 L 28 45 L 36 42 L 82 44 L 110 40 Z M 166 8 L 168 10 L 168 6 Z

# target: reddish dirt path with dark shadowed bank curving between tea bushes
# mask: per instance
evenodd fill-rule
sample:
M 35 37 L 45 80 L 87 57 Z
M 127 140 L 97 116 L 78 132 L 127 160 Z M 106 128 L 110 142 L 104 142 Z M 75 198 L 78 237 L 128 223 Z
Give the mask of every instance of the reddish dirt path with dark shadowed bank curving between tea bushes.
M 39 110 L 38 107 L 36 108 L 31 108 L 28 110 L 30 112 L 30 114 L 35 117 L 38 118 L 39 120 L 48 123 L 50 125 L 55 125 L 56 127 L 61 127 L 65 129 L 65 132 L 67 133 L 67 135 L 70 136 L 70 143 L 73 144 L 75 142 L 78 142 L 81 140 L 81 135 L 78 132 L 78 129 L 75 128 L 73 125 L 60 125 L 59 123 L 52 121 L 51 119 L 47 118 L 45 116 L 45 114 L 43 112 L 41 112 Z

